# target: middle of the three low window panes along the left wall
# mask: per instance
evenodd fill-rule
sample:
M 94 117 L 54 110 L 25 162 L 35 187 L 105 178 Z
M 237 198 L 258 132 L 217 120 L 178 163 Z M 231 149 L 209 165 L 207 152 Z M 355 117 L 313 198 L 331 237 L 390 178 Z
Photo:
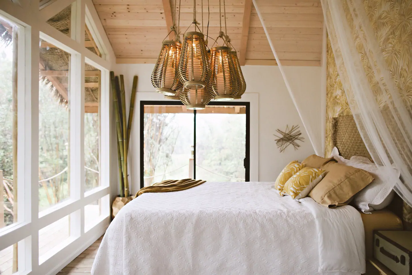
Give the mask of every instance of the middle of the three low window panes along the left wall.
M 39 264 L 56 254 L 70 241 L 70 215 L 64 216 L 40 229 Z

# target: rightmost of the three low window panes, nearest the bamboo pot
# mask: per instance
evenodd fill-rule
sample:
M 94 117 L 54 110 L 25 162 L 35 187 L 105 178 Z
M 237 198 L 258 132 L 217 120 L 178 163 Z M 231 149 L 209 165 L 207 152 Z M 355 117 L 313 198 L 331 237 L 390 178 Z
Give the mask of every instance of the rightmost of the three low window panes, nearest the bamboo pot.
M 109 195 L 105 195 L 84 207 L 84 232 L 89 231 L 98 222 L 109 216 L 110 213 L 106 211 L 109 209 L 108 204 Z

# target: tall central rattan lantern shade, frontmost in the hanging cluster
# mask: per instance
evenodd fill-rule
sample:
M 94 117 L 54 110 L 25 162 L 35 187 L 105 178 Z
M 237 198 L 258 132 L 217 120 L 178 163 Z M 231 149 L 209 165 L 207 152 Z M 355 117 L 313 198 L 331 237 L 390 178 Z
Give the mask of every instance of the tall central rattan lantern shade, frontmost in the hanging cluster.
M 203 33 L 190 31 L 183 36 L 178 74 L 185 88 L 204 88 L 210 77 Z

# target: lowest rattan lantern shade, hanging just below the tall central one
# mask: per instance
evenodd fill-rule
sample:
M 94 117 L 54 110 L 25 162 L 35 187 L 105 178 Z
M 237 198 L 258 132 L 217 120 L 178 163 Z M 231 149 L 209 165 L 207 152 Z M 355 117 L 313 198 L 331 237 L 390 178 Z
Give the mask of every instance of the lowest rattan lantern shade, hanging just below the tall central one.
M 194 88 L 183 88 L 180 91 L 180 101 L 189 110 L 203 110 L 212 99 L 205 88 L 195 86 Z

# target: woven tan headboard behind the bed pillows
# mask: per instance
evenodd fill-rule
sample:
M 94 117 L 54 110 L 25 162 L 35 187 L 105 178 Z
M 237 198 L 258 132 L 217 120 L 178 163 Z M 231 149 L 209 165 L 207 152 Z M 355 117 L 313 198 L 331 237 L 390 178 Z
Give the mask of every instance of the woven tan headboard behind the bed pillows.
M 352 115 L 332 118 L 332 143 L 339 150 L 339 155 L 350 159 L 354 155 L 372 158 L 363 143 L 361 134 Z M 393 213 L 404 221 L 405 228 L 412 230 L 412 208 L 395 194 L 393 201 L 388 206 Z

